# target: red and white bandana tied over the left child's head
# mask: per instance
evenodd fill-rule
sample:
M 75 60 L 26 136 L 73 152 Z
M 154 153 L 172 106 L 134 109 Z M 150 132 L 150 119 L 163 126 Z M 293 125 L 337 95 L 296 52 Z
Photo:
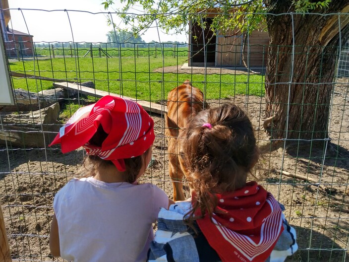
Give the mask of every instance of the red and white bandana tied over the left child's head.
M 98 147 L 88 141 L 100 125 L 108 136 Z M 119 171 L 125 171 L 123 159 L 142 155 L 154 139 L 154 121 L 139 104 L 107 95 L 79 108 L 49 146 L 60 143 L 62 153 L 83 146 L 87 154 L 111 160 Z

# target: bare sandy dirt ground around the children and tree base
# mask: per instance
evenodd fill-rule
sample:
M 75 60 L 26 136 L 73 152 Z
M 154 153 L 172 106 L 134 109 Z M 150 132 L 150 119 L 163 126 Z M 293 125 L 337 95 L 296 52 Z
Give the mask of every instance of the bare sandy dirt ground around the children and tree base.
M 285 150 L 282 146 L 264 153 L 253 173 L 259 183 L 285 205 L 285 216 L 296 229 L 299 251 L 288 261 L 339 262 L 345 261 L 348 255 L 349 98 L 346 82 L 348 79 L 337 85 L 333 97 L 331 146 L 317 148 L 295 144 Z M 262 128 L 264 98 L 235 96 L 223 102 L 229 101 L 246 106 L 256 137 L 260 144 L 265 144 L 268 136 Z M 211 106 L 218 105 L 218 101 L 208 102 Z M 158 115 L 153 117 L 157 137 L 152 166 L 140 182 L 152 182 L 172 197 L 164 119 Z M 324 148 L 327 149 L 325 158 Z M 0 201 L 12 258 L 15 261 L 61 261 L 50 255 L 48 245 L 52 200 L 57 191 L 76 176 L 83 150 L 62 155 L 58 148 L 0 149 Z M 308 178 L 308 181 L 282 174 L 281 169 Z M 321 181 L 322 188 L 311 179 Z M 184 188 L 189 196 L 185 183 Z

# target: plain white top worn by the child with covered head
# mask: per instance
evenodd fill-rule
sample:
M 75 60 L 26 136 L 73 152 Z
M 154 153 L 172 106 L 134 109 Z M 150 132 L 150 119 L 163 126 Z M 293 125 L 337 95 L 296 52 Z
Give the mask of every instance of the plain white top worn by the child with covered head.
M 60 256 L 74 262 L 145 261 L 169 198 L 153 184 L 69 181 L 55 196 Z

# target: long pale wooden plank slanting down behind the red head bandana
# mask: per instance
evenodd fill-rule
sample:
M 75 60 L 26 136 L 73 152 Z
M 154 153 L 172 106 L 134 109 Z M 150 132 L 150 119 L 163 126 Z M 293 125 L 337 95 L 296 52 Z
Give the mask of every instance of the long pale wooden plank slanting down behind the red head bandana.
M 82 85 L 77 85 L 77 84 L 73 84 L 73 83 L 54 83 L 55 87 L 60 87 L 60 88 L 64 88 L 66 90 L 75 90 L 80 92 L 80 94 L 84 94 L 84 95 L 90 95 L 90 96 L 94 96 L 94 97 L 103 97 L 106 95 L 114 95 L 114 96 L 119 96 L 119 97 L 123 97 L 132 101 L 137 102 L 138 104 L 140 104 L 145 111 L 148 111 L 150 113 L 155 113 L 155 114 L 164 114 L 167 113 L 167 107 L 166 106 L 162 106 L 159 104 L 155 104 L 152 103 L 150 101 L 144 101 L 144 100 L 136 100 L 134 98 L 131 97 L 127 97 L 127 96 L 123 96 L 123 95 L 119 95 L 119 94 L 114 94 L 114 93 L 110 93 L 107 91 L 102 91 L 102 90 L 98 90 L 98 89 L 93 89 L 90 87 L 86 87 L 86 86 L 82 86 Z

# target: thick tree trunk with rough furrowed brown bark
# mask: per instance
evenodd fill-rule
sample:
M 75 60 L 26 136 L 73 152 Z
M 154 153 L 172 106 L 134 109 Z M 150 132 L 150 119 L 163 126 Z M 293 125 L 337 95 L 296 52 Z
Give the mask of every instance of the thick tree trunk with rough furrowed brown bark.
M 270 13 L 292 11 L 290 0 L 265 0 L 265 4 Z M 314 12 L 335 15 L 267 15 L 270 47 L 265 77 L 265 127 L 271 138 L 328 137 L 340 44 L 338 13 L 348 11 L 349 0 L 332 0 L 328 9 Z M 349 37 L 349 15 L 341 15 L 340 21 L 343 46 Z

